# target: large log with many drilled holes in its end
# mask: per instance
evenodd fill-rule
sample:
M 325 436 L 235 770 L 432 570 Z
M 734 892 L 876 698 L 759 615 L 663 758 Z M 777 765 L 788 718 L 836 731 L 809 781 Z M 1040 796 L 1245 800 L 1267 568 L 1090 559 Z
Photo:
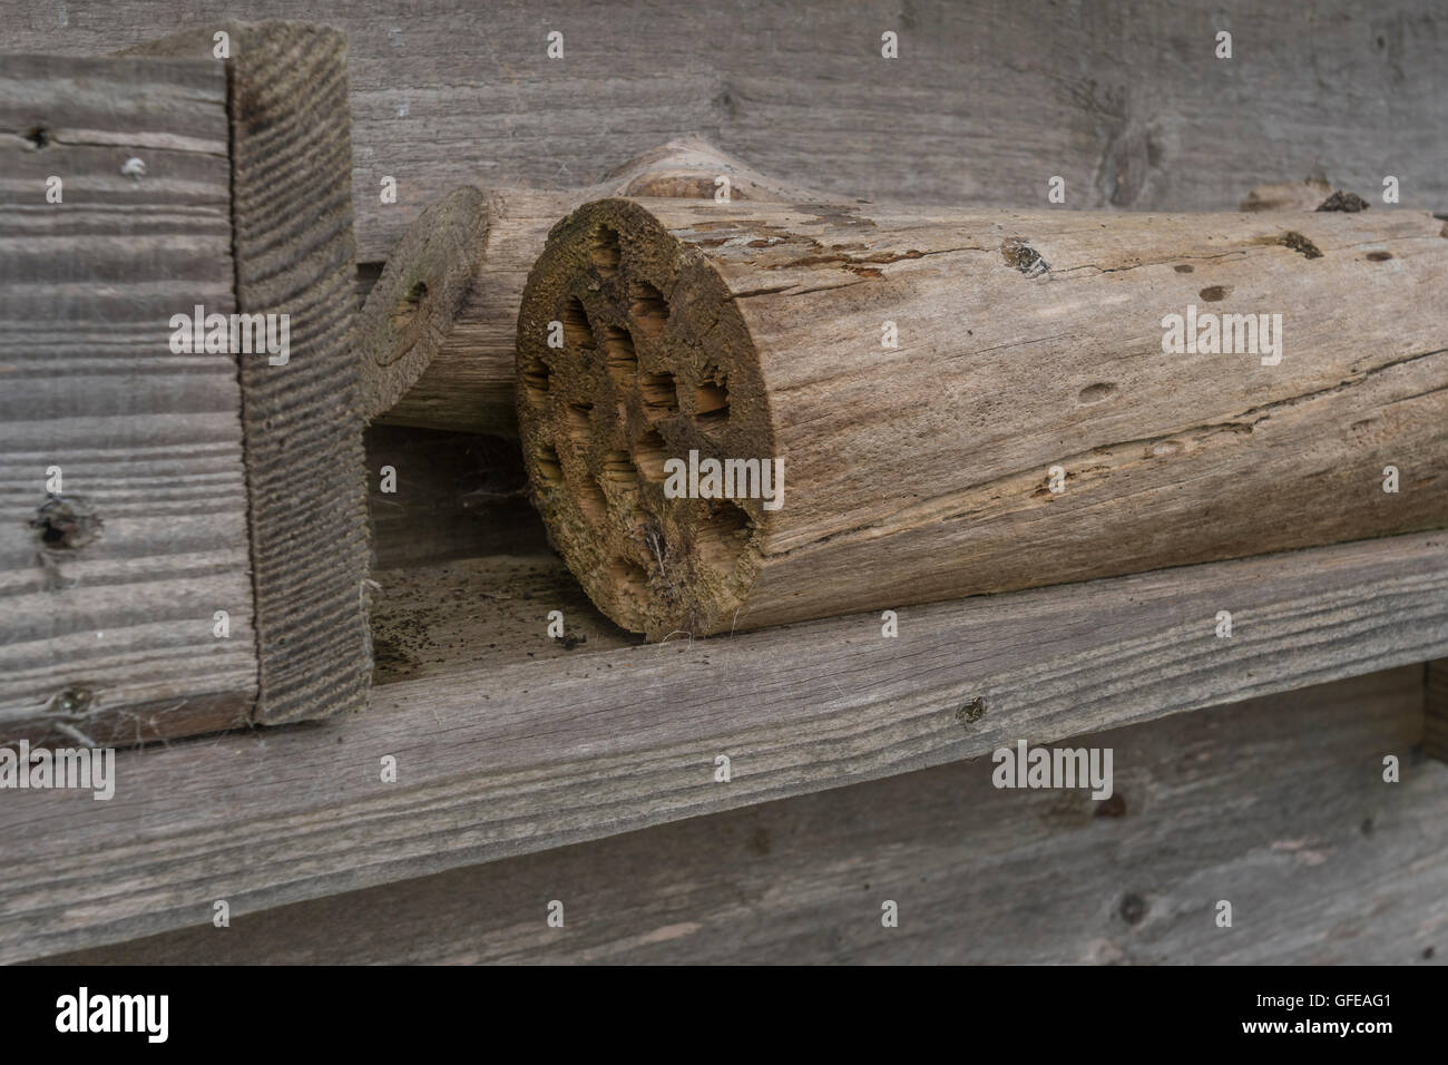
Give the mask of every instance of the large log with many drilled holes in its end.
M 650 639 L 1436 529 L 1445 235 L 604 200 L 529 278 L 524 461 L 589 597 Z M 1260 343 L 1228 319 L 1245 354 L 1169 354 L 1197 312 L 1268 317 Z M 691 456 L 754 477 L 681 484 Z

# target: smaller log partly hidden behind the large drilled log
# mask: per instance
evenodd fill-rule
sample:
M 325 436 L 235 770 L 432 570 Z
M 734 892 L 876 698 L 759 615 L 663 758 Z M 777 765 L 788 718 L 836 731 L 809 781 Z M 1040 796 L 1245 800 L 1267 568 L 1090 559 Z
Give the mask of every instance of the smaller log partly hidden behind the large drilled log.
M 714 201 L 820 199 L 767 178 L 696 138 L 624 164 L 581 190 L 458 188 L 429 207 L 388 256 L 359 322 L 363 410 L 388 425 L 517 435 L 513 365 L 518 301 L 547 230 L 607 196 Z

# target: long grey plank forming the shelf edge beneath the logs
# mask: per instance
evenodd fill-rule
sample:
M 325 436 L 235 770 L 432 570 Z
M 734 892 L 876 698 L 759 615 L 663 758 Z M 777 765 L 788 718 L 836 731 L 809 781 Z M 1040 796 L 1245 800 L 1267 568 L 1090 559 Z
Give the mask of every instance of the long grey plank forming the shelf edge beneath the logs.
M 111 801 L 0 804 L 0 961 L 1441 658 L 1445 548 L 1419 533 L 918 607 L 895 639 L 866 614 L 458 669 L 345 722 L 135 752 Z

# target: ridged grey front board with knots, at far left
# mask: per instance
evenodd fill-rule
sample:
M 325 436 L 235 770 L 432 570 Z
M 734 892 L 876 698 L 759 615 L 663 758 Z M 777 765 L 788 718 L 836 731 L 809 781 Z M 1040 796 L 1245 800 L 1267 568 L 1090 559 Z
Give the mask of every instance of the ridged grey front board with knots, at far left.
M 0 739 L 245 722 L 236 361 L 169 345 L 236 309 L 224 71 L 7 57 L 0 162 Z

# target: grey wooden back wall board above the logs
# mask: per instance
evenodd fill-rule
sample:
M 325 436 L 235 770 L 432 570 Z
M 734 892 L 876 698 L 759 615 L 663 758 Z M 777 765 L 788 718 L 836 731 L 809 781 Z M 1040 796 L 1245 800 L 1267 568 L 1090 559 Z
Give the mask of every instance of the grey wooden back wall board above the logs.
M 65 12 L 71 13 L 67 14 Z M 188 0 L 0 4 L 9 49 L 109 52 L 210 22 Z M 462 184 L 568 188 L 681 133 L 837 196 L 1066 209 L 1229 210 L 1323 170 L 1364 196 L 1448 201 L 1448 35 L 1432 0 L 892 0 L 487 12 L 259 0 L 352 39 L 358 238 L 382 259 Z M 1234 57 L 1216 59 L 1216 32 Z M 546 35 L 565 35 L 565 58 Z M 899 58 L 880 35 L 899 33 Z M 397 204 L 379 201 L 384 175 Z

